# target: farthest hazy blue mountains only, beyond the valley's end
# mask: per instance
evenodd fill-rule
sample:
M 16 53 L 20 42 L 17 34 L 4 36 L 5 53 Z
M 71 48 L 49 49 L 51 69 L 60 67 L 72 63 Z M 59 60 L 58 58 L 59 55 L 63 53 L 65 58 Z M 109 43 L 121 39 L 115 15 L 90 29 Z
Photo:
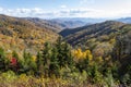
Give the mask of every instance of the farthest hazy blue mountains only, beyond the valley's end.
M 66 28 L 76 28 L 76 27 L 82 27 L 85 25 L 94 24 L 94 23 L 99 23 L 105 21 L 104 18 L 88 18 L 88 17 L 60 17 L 60 18 L 52 18 L 49 20 L 52 24 L 59 24 L 62 29 Z

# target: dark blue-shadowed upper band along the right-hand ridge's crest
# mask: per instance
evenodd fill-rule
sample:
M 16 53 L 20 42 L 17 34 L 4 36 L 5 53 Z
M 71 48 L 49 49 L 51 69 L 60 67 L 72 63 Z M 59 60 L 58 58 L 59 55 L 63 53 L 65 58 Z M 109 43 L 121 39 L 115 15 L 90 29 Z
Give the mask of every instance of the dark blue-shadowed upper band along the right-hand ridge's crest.
M 60 32 L 60 35 L 62 35 L 63 37 L 67 37 L 69 35 L 82 35 L 84 33 L 88 33 L 92 35 L 94 33 L 97 32 L 103 32 L 103 30 L 110 30 L 110 29 L 119 29 L 119 27 L 121 27 L 122 25 L 124 25 L 123 23 L 120 22 L 115 22 L 115 21 L 106 21 L 103 23 L 97 23 L 97 24 L 92 24 L 92 25 L 86 25 L 83 27 L 78 27 L 74 29 L 64 29 L 62 32 Z M 80 34 L 79 34 L 80 33 Z M 88 34 L 86 34 L 88 35 Z

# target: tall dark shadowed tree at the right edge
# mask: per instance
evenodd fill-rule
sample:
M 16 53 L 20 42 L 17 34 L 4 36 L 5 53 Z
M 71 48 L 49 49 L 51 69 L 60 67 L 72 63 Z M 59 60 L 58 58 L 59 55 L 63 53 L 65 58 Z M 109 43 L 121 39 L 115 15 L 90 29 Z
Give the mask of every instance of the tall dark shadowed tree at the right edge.
M 118 75 L 121 83 L 129 83 L 131 78 L 131 32 L 127 35 L 116 37 L 116 45 L 112 51 L 112 60 L 117 63 Z M 131 83 L 130 83 L 131 84 Z

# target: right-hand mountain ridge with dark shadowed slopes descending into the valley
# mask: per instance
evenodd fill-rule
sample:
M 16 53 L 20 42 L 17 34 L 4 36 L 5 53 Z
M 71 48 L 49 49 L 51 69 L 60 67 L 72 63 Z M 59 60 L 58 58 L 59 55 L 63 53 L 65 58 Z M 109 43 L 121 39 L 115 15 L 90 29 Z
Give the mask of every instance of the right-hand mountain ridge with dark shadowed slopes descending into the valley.
M 86 46 L 88 40 L 106 41 L 115 38 L 119 32 L 131 30 L 131 25 L 121 22 L 106 21 L 93 25 L 64 29 L 60 35 L 72 46 Z M 95 42 L 94 42 L 95 44 Z

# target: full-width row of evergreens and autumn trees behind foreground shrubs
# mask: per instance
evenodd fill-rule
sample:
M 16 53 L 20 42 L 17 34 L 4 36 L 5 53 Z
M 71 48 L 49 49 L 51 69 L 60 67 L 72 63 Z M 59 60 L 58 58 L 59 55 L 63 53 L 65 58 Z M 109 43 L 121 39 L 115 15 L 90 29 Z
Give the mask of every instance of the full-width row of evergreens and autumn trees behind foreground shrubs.
M 93 54 L 90 49 L 73 49 L 62 38 L 56 44 L 46 42 L 37 55 L 26 50 L 22 58 L 15 51 L 9 55 L 0 48 L 0 73 L 13 71 L 16 75 L 61 78 L 78 86 L 131 86 L 131 52 L 126 52 L 129 47 L 123 47 L 126 38 L 129 39 L 126 44 L 130 45 L 130 34 L 123 38 L 118 37 L 114 51 L 106 59 Z

